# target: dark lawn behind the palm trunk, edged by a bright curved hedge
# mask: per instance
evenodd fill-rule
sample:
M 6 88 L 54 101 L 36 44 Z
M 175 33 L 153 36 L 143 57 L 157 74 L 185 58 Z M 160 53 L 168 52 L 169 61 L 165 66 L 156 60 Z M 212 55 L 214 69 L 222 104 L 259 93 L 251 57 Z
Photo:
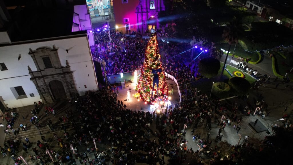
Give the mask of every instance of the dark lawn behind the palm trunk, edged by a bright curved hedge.
M 228 43 L 215 43 L 215 46 L 217 49 L 222 48 L 225 51 L 227 51 L 229 48 Z M 234 47 L 235 47 L 235 45 L 231 45 L 231 49 L 230 49 L 231 54 L 233 53 Z M 259 58 L 257 53 L 249 53 L 249 52 L 245 51 L 239 43 L 236 45 L 234 55 L 237 55 L 237 56 L 245 58 L 245 59 L 249 58 L 252 62 L 256 62 Z

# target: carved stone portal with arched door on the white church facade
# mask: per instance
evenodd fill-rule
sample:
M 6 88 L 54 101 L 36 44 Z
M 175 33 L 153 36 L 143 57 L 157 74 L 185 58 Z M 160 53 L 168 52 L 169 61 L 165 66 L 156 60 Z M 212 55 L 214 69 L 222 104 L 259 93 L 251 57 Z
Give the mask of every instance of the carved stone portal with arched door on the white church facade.
M 28 66 L 30 80 L 35 84 L 43 102 L 71 98 L 77 92 L 70 65 L 68 62 L 66 66 L 61 65 L 55 46 L 30 49 L 28 54 L 37 67 L 37 71 L 31 71 Z

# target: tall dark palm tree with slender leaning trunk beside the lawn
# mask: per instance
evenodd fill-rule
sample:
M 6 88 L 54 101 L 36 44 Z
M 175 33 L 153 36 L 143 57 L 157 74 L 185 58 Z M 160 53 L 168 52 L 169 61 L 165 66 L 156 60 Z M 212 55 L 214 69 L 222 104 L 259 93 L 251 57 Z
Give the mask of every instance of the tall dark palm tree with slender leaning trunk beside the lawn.
M 228 58 L 228 54 L 229 54 L 229 51 L 231 49 L 231 45 L 232 44 L 235 44 L 235 43 L 238 43 L 238 26 L 236 24 L 235 21 L 232 21 L 230 23 L 228 23 L 223 31 L 223 39 L 229 43 L 229 49 L 228 49 L 228 52 L 227 52 L 227 55 L 226 55 L 226 58 L 225 58 L 225 62 L 224 62 L 224 67 L 222 69 L 222 72 L 221 72 L 221 76 L 223 75 L 224 73 L 224 70 L 225 70 L 225 66 L 226 66 L 226 62 L 227 62 L 227 58 Z

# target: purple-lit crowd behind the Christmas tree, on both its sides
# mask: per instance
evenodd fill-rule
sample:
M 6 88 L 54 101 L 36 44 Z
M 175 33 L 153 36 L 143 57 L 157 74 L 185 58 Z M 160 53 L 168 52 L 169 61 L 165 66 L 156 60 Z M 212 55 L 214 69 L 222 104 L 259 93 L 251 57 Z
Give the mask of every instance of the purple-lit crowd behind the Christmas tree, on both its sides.
M 147 44 L 147 37 L 139 32 L 132 32 L 129 35 L 122 35 L 119 32 L 111 31 L 111 42 L 109 42 L 108 31 L 95 30 L 95 49 L 92 50 L 93 59 L 106 61 L 107 75 L 132 72 L 142 68 L 144 52 Z M 198 74 L 198 62 L 200 57 L 187 65 L 186 54 L 182 53 L 190 49 L 190 43 L 186 42 L 161 42 L 161 39 L 169 34 L 157 31 L 159 50 L 163 67 L 168 74 L 176 78 L 179 85 L 193 82 L 200 75 Z M 182 53 L 178 55 L 179 53 Z M 200 52 L 195 51 L 197 55 Z M 195 56 L 194 55 L 194 56 Z M 189 56 L 188 56 L 189 57 Z M 104 74 L 103 74 L 104 75 Z

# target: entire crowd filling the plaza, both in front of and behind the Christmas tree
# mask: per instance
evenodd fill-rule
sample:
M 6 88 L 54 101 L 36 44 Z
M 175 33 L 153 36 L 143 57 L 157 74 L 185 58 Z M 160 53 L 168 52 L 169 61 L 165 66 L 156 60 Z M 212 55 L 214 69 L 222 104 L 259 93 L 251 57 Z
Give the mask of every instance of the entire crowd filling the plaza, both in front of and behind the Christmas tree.
M 158 36 L 166 36 L 162 31 L 157 32 Z M 146 38 L 142 38 L 139 32 L 133 32 L 130 35 L 112 31 L 109 41 L 108 31 L 96 29 L 94 32 L 96 46 L 92 50 L 94 60 L 105 60 L 107 75 L 122 72 L 130 72 L 141 68 L 144 60 L 144 50 L 147 43 Z M 218 142 L 222 140 L 222 130 L 227 125 L 234 123 L 236 134 L 241 130 L 240 124 L 242 118 L 237 113 L 249 113 L 255 106 L 259 106 L 259 115 L 268 115 L 265 109 L 267 104 L 258 98 L 256 105 L 240 109 L 237 102 L 229 104 L 218 100 L 210 99 L 200 90 L 191 87 L 190 83 L 195 81 L 200 75 L 197 73 L 200 57 L 186 65 L 186 55 L 178 55 L 190 48 L 189 43 L 159 42 L 160 53 L 163 60 L 165 71 L 173 75 L 179 86 L 188 85 L 182 90 L 180 105 L 175 108 L 166 107 L 160 112 L 133 111 L 123 105 L 122 100 L 117 100 L 117 92 L 111 89 L 103 89 L 98 92 L 88 91 L 82 97 L 76 97 L 69 100 L 71 109 L 76 109 L 73 115 L 72 110 L 66 112 L 64 116 L 56 116 L 52 107 L 46 107 L 44 113 L 52 114 L 52 117 L 59 117 L 59 124 L 47 122 L 50 130 L 62 130 L 64 136 L 53 134 L 53 143 L 58 145 L 61 150 L 56 151 L 48 145 L 52 143 L 46 139 L 40 132 L 41 140 L 38 140 L 37 147 L 34 147 L 28 138 L 21 140 L 17 138 L 19 128 L 13 132 L 14 121 L 18 114 L 12 112 L 5 114 L 6 125 L 5 133 L 10 134 L 9 129 L 15 133 L 16 138 L 9 140 L 1 147 L 1 153 L 6 156 L 10 152 L 11 159 L 15 164 L 21 164 L 21 157 L 18 146 L 27 152 L 32 149 L 35 154 L 30 154 L 31 161 L 40 164 L 182 164 L 190 161 L 190 156 L 196 159 L 197 164 L 203 164 L 203 159 L 212 158 L 213 161 L 221 158 L 218 150 Z M 196 54 L 197 52 L 195 52 Z M 213 55 L 222 55 L 222 52 L 215 51 Z M 256 82 L 263 83 L 266 79 Z M 269 78 L 268 78 L 269 81 Z M 261 101 L 260 101 L 261 100 Z M 58 111 L 58 110 L 56 110 Z M 39 127 L 38 118 L 39 109 L 31 111 L 30 122 Z M 219 117 L 220 116 L 220 117 Z M 224 116 L 224 117 L 223 117 Z M 4 116 L 1 116 L 3 119 Z M 25 120 L 23 118 L 23 120 Z M 219 132 L 216 137 L 210 137 L 210 134 L 200 134 L 198 127 L 203 127 L 209 131 L 212 129 L 212 122 L 218 124 Z M 64 124 L 67 124 L 65 126 Z M 70 123 L 70 126 L 68 124 Z M 237 125 L 237 127 L 236 127 Z M 286 120 L 284 125 L 292 127 L 292 124 Z M 9 128 L 10 127 L 10 128 Z M 26 131 L 25 127 L 22 131 Z M 70 129 L 73 128 L 73 129 Z M 185 138 L 186 128 L 192 128 L 193 142 L 197 143 L 197 149 L 187 149 L 188 142 Z M 212 139 L 215 139 L 212 140 Z M 212 143 L 216 143 L 213 146 Z M 189 142 L 190 143 L 190 142 Z M 244 144 L 246 145 L 246 144 Z M 239 147 L 232 146 L 234 153 L 228 157 L 237 158 L 245 153 L 239 152 Z M 89 154 L 93 154 L 90 156 Z M 240 157 L 240 156 L 239 156 Z

